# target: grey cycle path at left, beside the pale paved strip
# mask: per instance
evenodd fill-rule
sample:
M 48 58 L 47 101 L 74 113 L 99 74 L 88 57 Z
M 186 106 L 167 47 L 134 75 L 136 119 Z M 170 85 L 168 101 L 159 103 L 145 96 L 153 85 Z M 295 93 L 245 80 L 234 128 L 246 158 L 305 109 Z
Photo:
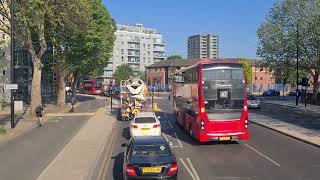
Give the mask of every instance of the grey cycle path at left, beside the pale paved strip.
M 105 106 L 105 100 L 80 97 L 73 116 L 54 117 L 42 128 L 34 128 L 0 144 L 0 179 L 34 180 L 88 121 L 89 115 Z

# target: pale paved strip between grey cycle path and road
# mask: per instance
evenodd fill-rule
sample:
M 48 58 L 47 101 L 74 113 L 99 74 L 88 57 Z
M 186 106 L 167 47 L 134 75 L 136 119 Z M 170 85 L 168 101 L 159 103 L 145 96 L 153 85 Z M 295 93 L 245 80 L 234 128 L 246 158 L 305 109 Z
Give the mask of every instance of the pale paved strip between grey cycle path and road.
M 100 108 L 47 166 L 38 180 L 90 179 L 115 122 L 115 118 L 106 113 L 105 108 Z

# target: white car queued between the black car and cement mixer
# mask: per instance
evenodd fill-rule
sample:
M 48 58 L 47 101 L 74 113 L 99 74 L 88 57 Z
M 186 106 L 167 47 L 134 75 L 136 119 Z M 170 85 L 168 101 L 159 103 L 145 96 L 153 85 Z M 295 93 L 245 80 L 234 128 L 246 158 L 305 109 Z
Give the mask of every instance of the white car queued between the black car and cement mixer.
M 160 117 L 154 112 L 138 112 L 130 122 L 130 135 L 135 136 L 160 136 Z

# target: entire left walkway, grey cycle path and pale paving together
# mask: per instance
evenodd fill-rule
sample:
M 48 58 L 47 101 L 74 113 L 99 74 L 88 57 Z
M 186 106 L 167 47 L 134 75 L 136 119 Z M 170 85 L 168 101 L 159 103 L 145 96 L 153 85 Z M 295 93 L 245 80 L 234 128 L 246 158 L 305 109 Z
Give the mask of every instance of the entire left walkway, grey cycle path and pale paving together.
M 87 98 L 73 116 L 50 117 L 43 127 L 0 143 L 0 179 L 81 179 L 93 174 L 112 127 L 105 106 L 105 99 Z

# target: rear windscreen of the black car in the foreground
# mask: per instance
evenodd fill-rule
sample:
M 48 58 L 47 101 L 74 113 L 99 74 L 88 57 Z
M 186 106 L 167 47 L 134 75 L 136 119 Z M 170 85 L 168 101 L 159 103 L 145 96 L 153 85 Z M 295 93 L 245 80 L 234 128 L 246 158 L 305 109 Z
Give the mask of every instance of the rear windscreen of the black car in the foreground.
M 170 154 L 166 144 L 135 145 L 132 148 L 132 156 L 166 156 Z

